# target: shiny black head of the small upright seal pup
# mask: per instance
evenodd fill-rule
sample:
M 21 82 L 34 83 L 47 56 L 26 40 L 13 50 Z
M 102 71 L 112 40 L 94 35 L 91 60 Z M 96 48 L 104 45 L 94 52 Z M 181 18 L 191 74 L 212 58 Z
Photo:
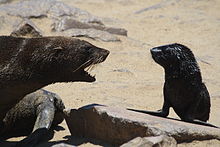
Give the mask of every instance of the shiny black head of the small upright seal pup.
M 200 74 L 199 66 L 192 51 L 182 44 L 158 46 L 150 51 L 154 61 L 173 77 L 189 77 L 196 73 Z

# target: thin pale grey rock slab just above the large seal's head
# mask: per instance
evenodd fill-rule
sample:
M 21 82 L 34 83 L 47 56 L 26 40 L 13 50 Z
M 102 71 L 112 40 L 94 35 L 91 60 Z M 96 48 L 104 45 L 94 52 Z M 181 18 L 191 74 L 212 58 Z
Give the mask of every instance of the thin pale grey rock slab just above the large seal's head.
M 105 42 L 120 41 L 120 39 L 108 32 L 96 29 L 69 29 L 63 31 L 61 34 L 71 37 L 87 37 L 91 39 L 99 39 Z

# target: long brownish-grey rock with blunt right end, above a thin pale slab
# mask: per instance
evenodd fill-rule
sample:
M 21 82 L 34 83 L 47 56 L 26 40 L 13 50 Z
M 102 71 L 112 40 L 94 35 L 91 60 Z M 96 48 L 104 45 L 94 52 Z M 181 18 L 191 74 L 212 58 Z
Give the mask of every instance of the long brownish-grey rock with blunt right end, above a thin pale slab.
M 101 31 L 106 31 L 111 34 L 117 34 L 117 35 L 123 35 L 127 36 L 127 31 L 122 28 L 112 28 L 112 27 L 106 27 L 103 24 L 93 24 L 93 23 L 86 23 L 78 21 L 74 18 L 70 17 L 63 17 L 61 20 L 56 20 L 53 24 L 53 30 L 55 31 L 64 31 L 67 29 L 96 29 Z

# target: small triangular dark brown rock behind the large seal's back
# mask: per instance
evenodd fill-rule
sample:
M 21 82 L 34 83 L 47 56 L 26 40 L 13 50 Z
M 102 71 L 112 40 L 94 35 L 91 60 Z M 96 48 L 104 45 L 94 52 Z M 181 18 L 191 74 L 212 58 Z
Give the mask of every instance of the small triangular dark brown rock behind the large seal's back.
M 41 31 L 30 20 L 23 21 L 12 33 L 14 37 L 42 37 Z

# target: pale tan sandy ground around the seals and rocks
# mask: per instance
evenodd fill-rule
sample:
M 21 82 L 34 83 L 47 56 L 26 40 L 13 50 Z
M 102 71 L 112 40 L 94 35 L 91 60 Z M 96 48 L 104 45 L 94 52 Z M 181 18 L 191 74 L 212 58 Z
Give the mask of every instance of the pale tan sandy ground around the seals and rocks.
M 108 49 L 111 54 L 92 73 L 95 83 L 58 83 L 45 89 L 59 94 L 66 107 L 79 108 L 91 103 L 110 106 L 158 110 L 163 103 L 164 71 L 152 59 L 149 49 L 153 46 L 182 43 L 192 49 L 201 68 L 203 81 L 211 95 L 210 123 L 220 126 L 220 0 L 171 0 L 162 8 L 139 14 L 138 10 L 165 0 L 63 0 L 70 6 L 87 10 L 103 18 L 108 26 L 128 30 L 128 37 L 121 42 L 102 42 L 85 39 Z M 46 32 L 49 24 L 33 21 Z M 2 31 L 7 34 L 10 30 Z M 171 117 L 178 118 L 172 111 Z M 68 142 L 80 146 L 104 145 L 70 137 L 63 122 L 63 129 L 56 131 L 49 143 Z M 12 138 L 16 141 L 21 138 Z M 217 140 L 193 142 L 181 146 L 220 146 Z

